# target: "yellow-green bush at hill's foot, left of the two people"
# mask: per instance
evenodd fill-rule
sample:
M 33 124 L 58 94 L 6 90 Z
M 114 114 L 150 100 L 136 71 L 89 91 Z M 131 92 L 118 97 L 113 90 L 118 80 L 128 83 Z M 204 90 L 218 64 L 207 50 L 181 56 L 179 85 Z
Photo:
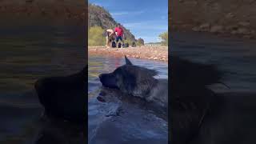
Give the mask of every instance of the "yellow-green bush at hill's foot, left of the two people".
M 105 46 L 106 38 L 103 35 L 104 30 L 100 26 L 92 26 L 88 31 L 89 46 Z

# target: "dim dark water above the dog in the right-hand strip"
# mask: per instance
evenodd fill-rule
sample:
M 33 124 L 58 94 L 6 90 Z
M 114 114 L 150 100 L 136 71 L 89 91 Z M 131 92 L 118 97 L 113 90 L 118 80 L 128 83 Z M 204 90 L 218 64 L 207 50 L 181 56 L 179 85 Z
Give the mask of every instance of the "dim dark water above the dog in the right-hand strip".
M 255 91 L 256 42 L 242 38 L 221 38 L 203 33 L 173 33 L 171 53 L 194 62 L 215 64 L 225 75 L 222 82 L 230 86 L 215 86 L 223 91 Z

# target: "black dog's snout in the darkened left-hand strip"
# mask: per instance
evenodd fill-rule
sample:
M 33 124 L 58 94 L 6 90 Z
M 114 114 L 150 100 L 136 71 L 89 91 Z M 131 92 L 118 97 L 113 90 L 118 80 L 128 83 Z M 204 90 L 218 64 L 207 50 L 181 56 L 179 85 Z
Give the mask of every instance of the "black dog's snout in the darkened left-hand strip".
M 39 79 L 34 84 L 39 101 L 49 117 L 73 122 L 86 120 L 87 66 L 66 77 Z

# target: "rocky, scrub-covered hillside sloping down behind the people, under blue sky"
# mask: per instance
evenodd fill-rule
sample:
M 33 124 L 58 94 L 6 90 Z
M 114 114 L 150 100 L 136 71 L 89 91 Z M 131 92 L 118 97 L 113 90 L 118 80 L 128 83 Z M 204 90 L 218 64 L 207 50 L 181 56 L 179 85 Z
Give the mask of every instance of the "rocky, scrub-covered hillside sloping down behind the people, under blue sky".
M 89 26 L 101 26 L 103 29 L 113 29 L 118 23 L 114 20 L 114 18 L 112 18 L 111 14 L 101 6 L 89 4 L 88 12 Z M 127 30 L 124 27 L 124 32 L 127 39 L 136 41 L 134 35 L 130 33 L 130 30 Z

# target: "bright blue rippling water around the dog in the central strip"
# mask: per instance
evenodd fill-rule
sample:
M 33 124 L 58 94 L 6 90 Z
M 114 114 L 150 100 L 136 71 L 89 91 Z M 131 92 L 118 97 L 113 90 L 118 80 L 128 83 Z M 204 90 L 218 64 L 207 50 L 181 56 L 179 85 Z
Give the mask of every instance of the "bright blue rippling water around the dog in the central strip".
M 155 62 L 130 58 L 134 65 L 158 70 L 156 78 L 168 78 L 168 66 Z M 167 143 L 167 122 L 150 110 L 136 105 L 122 104 L 120 117 L 107 116 L 118 110 L 120 103 L 98 102 L 96 97 L 101 89 L 98 74 L 110 73 L 125 63 L 124 58 L 89 57 L 88 77 L 88 142 L 98 143 Z

